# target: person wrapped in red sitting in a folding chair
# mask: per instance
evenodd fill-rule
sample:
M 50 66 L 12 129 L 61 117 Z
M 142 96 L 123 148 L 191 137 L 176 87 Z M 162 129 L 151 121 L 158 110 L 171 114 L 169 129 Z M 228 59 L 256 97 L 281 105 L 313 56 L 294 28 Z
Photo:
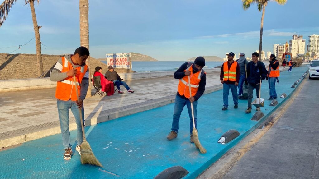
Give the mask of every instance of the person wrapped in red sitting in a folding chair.
M 104 92 L 106 92 L 108 96 L 111 96 L 114 94 L 113 82 L 108 81 L 104 77 L 104 75 L 102 74 L 102 68 L 99 66 L 95 67 L 95 72 L 93 74 L 93 82 L 94 82 L 93 86 L 96 89 L 95 94 L 99 93 L 100 96 L 103 96 Z

